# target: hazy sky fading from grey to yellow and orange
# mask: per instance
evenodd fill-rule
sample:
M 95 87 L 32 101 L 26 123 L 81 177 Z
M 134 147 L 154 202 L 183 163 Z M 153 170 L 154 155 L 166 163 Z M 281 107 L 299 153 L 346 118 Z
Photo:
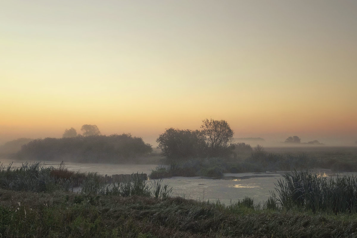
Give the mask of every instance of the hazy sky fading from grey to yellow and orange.
M 0 1 L 0 143 L 84 124 L 155 145 L 357 140 L 357 1 Z

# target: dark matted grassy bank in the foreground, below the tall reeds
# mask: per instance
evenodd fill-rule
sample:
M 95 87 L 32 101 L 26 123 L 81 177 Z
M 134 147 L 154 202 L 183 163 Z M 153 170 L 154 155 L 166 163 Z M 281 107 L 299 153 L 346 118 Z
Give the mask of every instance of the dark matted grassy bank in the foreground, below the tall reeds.
M 355 214 L 0 189 L 3 237 L 355 237 Z

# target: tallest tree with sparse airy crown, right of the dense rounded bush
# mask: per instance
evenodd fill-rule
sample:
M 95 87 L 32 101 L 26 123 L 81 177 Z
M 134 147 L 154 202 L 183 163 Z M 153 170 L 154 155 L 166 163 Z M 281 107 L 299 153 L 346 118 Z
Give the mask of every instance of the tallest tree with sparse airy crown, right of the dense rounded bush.
M 211 153 L 215 154 L 220 148 L 226 148 L 228 142 L 233 140 L 233 131 L 225 120 L 208 120 L 202 121 L 202 134 L 205 137 L 207 146 Z

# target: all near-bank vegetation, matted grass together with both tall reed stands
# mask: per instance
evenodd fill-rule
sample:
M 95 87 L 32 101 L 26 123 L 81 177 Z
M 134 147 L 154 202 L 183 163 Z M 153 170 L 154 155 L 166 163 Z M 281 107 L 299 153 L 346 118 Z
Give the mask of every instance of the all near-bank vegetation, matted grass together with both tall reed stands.
M 79 193 L 70 192 L 72 176 L 82 176 Z M 265 204 L 254 204 L 246 197 L 227 205 L 170 197 L 171 188 L 157 180 L 107 184 L 103 179 L 96 173 L 77 173 L 64 166 L 2 166 L 1 236 L 357 236 L 356 177 L 331 182 L 318 174 L 294 172 L 281 179 L 276 195 L 273 193 Z M 318 203 L 311 198 L 327 201 L 322 203 L 326 209 L 315 206 Z M 335 204 L 342 209 L 336 210 Z

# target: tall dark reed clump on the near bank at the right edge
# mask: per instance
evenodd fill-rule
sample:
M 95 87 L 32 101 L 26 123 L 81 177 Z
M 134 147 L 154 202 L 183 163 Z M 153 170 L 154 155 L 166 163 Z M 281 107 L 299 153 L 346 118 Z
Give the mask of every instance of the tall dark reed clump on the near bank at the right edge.
M 357 177 L 326 178 L 308 171 L 286 173 L 276 185 L 276 201 L 284 209 L 294 207 L 313 212 L 357 212 Z

